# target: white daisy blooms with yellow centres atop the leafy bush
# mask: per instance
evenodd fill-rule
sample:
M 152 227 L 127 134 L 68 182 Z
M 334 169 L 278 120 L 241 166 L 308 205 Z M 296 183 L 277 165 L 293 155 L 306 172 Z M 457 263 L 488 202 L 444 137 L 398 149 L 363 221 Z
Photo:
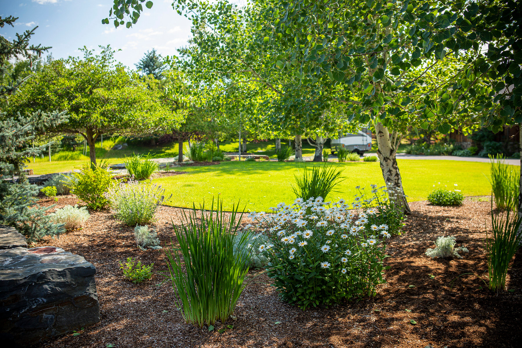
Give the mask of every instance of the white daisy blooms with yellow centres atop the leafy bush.
M 376 189 L 373 185 L 372 188 Z M 331 239 L 340 237 L 340 239 L 347 240 L 350 236 L 359 236 L 362 239 L 360 245 L 364 248 L 377 245 L 379 243 L 378 234 L 381 234 L 383 238 L 391 237 L 388 233 L 388 226 L 385 224 L 379 226 L 372 224 L 369 230 L 373 236 L 365 240 L 361 237 L 361 234 L 366 232 L 365 229 L 370 220 L 369 216 L 378 212 L 376 208 L 369 208 L 358 213 L 350 211 L 349 205 L 344 199 L 340 199 L 328 208 L 327 206 L 330 204 L 331 202 L 323 202 L 322 197 L 311 198 L 306 201 L 298 198 L 293 205 L 279 203 L 276 207 L 270 208 L 274 212 L 272 214 L 267 214 L 264 211 L 252 212 L 248 217 L 252 219 L 252 222 L 257 220 L 260 224 L 266 226 L 262 233 L 268 230 L 270 235 L 275 234 L 278 237 L 281 246 L 291 247 L 288 256 L 290 260 L 295 258 L 298 251 L 297 247 L 304 248 L 309 244 L 314 232 L 320 237 L 331 237 Z M 359 200 L 356 199 L 352 206 L 360 207 Z M 353 221 L 356 217 L 357 220 Z M 248 224 L 246 228 L 251 226 L 251 224 Z M 290 231 L 287 232 L 288 230 Z M 258 236 L 260 235 L 254 236 L 254 239 Z M 329 239 L 326 244 L 321 246 L 321 250 L 323 253 L 329 253 L 333 246 L 337 247 L 338 245 Z M 258 250 L 264 252 L 272 248 L 274 248 L 274 244 L 267 243 L 259 245 Z M 341 261 L 346 263 L 348 262 L 347 257 L 352 255 L 352 251 L 346 249 L 344 254 L 346 257 L 342 257 Z M 322 268 L 330 268 L 330 266 L 330 262 L 321 262 Z M 341 272 L 346 273 L 347 271 L 343 268 Z

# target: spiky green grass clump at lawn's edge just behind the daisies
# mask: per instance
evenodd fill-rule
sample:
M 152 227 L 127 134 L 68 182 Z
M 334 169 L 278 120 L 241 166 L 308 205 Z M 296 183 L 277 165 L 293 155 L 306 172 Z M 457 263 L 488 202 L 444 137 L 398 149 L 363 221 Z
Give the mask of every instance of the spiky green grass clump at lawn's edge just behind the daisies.
M 334 167 L 333 164 L 325 163 L 315 165 L 311 169 L 305 166 L 302 173 L 294 174 L 295 186 L 292 190 L 296 197 L 307 200 L 309 198 L 323 197 L 326 200 L 345 177 L 342 176 L 342 169 Z

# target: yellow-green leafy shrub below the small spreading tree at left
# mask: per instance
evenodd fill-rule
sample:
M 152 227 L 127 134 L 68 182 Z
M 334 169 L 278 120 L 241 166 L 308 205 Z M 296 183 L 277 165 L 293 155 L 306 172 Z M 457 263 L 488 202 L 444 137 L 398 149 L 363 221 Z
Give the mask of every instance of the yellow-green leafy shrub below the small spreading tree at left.
M 84 164 L 79 173 L 73 172 L 72 178 L 66 184 L 70 190 L 90 209 L 103 209 L 110 205 L 105 193 L 116 185 L 112 174 L 103 166 L 91 167 Z

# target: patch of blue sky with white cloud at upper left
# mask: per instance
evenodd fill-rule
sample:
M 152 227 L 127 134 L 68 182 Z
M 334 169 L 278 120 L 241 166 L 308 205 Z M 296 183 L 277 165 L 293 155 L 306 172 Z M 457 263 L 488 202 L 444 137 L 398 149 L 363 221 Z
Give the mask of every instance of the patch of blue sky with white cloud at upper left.
M 134 64 L 148 50 L 155 48 L 162 55 L 176 54 L 187 45 L 191 22 L 172 8 L 171 0 L 154 0 L 151 9 L 145 8 L 133 28 L 114 28 L 101 23 L 108 17 L 111 0 L 0 0 L 0 16 L 19 17 L 15 28 L 5 26 L 0 34 L 13 40 L 15 33 L 39 26 L 31 43 L 52 46 L 54 58 L 79 55 L 78 49 L 110 44 L 115 58 L 135 68 Z

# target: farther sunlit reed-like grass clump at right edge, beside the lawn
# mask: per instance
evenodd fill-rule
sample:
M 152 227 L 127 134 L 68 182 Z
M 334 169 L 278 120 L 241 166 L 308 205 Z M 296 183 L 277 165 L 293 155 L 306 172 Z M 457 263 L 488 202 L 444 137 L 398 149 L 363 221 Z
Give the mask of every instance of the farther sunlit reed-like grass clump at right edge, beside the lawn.
M 518 207 L 518 191 L 520 173 L 512 165 L 506 163 L 504 155 L 489 155 L 491 189 L 495 197 L 495 205 L 499 210 Z M 514 206 L 510 206 L 513 204 Z

